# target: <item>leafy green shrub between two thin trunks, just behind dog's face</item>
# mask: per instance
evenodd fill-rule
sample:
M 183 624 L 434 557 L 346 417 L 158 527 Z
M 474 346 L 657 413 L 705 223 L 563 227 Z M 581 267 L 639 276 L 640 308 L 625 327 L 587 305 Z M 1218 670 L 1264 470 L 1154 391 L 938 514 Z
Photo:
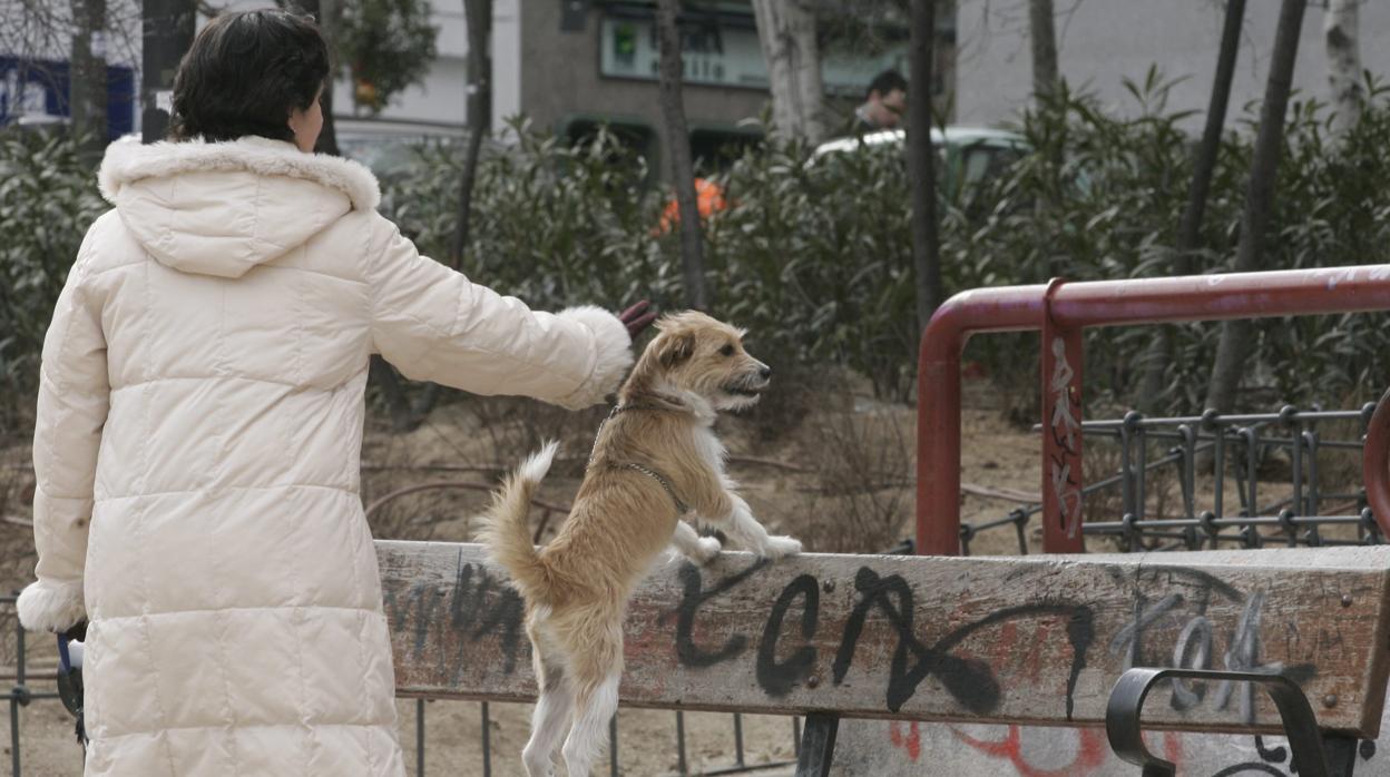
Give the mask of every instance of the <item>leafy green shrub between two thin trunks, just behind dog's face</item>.
M 844 364 L 906 396 L 917 335 L 903 154 L 809 152 L 748 150 L 719 178 L 730 208 L 705 231 L 716 311 L 784 360 Z

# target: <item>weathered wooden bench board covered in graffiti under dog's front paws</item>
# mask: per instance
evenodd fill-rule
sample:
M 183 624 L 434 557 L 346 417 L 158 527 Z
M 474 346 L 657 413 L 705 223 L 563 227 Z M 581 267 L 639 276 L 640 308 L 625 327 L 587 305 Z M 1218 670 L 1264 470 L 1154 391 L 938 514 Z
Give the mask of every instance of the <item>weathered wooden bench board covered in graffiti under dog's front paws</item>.
M 530 701 L 520 596 L 478 545 L 378 542 L 402 695 Z M 628 609 L 632 706 L 1099 726 L 1129 666 L 1284 670 L 1373 738 L 1390 548 L 663 562 Z M 1205 655 L 1205 660 L 1204 660 Z M 1277 731 L 1258 689 L 1156 689 L 1145 726 Z

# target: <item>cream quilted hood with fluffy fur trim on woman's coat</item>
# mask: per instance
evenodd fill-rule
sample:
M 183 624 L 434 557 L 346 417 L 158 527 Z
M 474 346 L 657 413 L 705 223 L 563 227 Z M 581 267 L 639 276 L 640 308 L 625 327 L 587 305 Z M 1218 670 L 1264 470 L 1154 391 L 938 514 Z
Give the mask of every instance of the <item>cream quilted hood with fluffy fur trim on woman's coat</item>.
M 293 143 L 113 143 L 101 196 L 161 264 L 238 278 L 304 245 L 350 210 L 381 200 L 366 167 Z

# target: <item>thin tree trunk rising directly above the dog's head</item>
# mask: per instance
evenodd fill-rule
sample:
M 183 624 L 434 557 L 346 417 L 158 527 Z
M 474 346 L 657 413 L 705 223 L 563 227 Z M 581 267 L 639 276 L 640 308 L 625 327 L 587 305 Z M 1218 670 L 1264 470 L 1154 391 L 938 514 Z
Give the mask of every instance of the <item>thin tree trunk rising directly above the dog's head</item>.
M 685 106 L 681 101 L 681 31 L 677 25 L 680 0 L 659 0 L 656 32 L 662 47 L 660 85 L 662 117 L 666 124 L 666 147 L 671 157 L 671 185 L 681 217 L 681 267 L 685 277 L 685 304 L 709 310 L 705 288 L 705 256 L 701 246 L 699 208 L 695 203 L 695 168 L 691 163 L 689 132 L 685 128 Z

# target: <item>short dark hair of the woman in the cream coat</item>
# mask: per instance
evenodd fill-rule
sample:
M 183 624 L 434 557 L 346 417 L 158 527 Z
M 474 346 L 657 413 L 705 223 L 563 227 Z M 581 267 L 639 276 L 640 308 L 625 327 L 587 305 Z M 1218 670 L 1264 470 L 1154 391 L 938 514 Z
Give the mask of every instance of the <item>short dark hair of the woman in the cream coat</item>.
M 327 76 L 328 46 L 307 17 L 275 10 L 218 15 L 174 76 L 170 139 L 293 140 L 291 110 L 309 110 Z

